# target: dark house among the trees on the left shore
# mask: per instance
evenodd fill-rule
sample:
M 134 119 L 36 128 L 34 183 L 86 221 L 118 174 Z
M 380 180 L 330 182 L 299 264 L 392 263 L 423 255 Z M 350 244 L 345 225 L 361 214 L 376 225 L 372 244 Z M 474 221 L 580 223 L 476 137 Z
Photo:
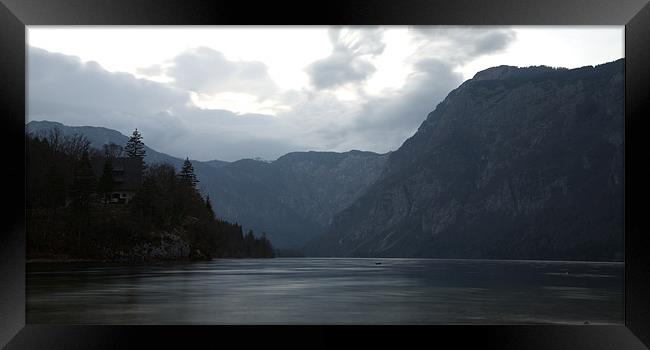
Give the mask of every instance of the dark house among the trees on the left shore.
M 97 179 L 104 171 L 105 158 L 93 159 L 91 165 Z M 111 203 L 126 204 L 133 199 L 142 186 L 143 163 L 139 158 L 114 158 L 113 180 L 115 186 L 110 193 Z

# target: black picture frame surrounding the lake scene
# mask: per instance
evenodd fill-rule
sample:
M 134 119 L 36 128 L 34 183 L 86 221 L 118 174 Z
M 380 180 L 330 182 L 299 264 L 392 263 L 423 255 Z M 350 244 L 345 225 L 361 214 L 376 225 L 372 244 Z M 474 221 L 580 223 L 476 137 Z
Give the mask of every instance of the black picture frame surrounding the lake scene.
M 643 135 L 650 117 L 650 5 L 647 0 L 0 2 L 0 115 L 3 118 L 0 139 L 6 164 L 3 199 L 9 204 L 5 205 L 0 220 L 0 346 L 6 345 L 7 349 L 193 348 L 203 341 L 210 347 L 227 344 L 415 347 L 423 344 L 444 348 L 644 349 L 650 346 L 650 235 L 644 232 L 647 225 L 641 220 L 648 182 Z M 22 146 L 25 26 L 207 24 L 625 25 L 625 325 L 26 325 Z

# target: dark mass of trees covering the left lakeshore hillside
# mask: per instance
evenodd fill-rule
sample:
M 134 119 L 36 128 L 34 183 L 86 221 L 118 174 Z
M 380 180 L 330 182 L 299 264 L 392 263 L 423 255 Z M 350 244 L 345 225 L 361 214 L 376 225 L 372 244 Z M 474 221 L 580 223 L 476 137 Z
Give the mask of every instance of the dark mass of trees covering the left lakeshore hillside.
M 151 164 L 135 198 L 109 210 L 97 199 L 110 192 L 115 180 L 111 168 L 117 161 L 111 152 L 89 148 L 79 135 L 54 131 L 49 136 L 26 134 L 28 256 L 157 259 L 146 253 L 131 256 L 130 250 L 142 243 L 162 245 L 169 235 L 187 244 L 195 259 L 273 257 L 265 234 L 256 238 L 238 223 L 217 219 L 210 196 L 188 186 L 198 182 L 189 158 L 181 172 L 169 164 Z M 98 176 L 91 161 L 103 164 Z

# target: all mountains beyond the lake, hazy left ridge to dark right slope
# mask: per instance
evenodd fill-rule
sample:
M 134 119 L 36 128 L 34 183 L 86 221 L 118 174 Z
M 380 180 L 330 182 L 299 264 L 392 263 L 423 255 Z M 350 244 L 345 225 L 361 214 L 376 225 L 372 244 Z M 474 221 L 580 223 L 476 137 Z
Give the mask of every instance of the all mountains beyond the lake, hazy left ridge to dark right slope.
M 218 216 L 311 256 L 621 260 L 623 60 L 494 67 L 395 152 L 193 161 Z M 86 135 L 100 127 L 32 121 Z M 146 130 L 142 130 L 146 143 Z M 147 148 L 146 161 L 182 159 Z

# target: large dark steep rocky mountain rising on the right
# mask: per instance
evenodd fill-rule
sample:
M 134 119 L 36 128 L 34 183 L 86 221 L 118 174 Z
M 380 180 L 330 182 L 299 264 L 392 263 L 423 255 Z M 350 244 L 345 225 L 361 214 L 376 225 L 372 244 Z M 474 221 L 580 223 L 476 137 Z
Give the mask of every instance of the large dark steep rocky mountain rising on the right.
M 307 254 L 622 259 L 623 73 L 622 59 L 477 73 Z

